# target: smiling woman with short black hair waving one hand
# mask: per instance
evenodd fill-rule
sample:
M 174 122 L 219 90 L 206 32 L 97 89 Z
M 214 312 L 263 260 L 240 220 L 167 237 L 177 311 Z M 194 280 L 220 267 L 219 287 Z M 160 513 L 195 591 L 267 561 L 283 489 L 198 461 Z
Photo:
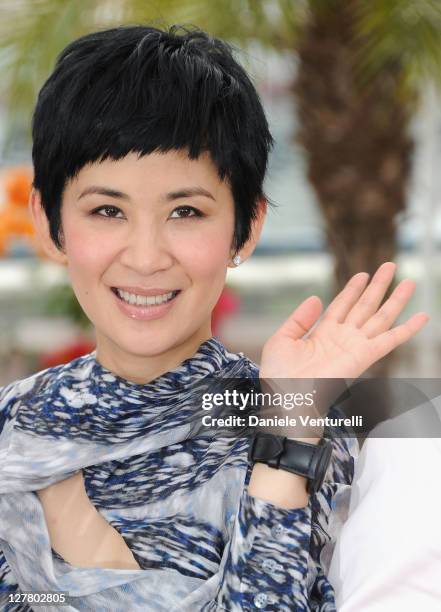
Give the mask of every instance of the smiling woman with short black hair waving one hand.
M 314 469 L 270 467 L 248 459 L 242 431 L 204 429 L 196 386 L 359 376 L 425 323 L 388 331 L 414 284 L 379 309 L 394 264 L 369 285 L 358 274 L 304 339 L 321 314 L 309 298 L 260 371 L 212 337 L 227 267 L 260 235 L 272 138 L 230 48 L 198 30 L 71 43 L 40 92 L 33 141 L 34 224 L 68 268 L 96 350 L 1 390 L 5 609 L 32 607 L 14 591 L 52 593 L 43 610 L 61 608 L 60 592 L 67 610 L 333 609 L 320 554 L 352 479 L 350 439 L 290 440 L 294 463 L 309 453 Z

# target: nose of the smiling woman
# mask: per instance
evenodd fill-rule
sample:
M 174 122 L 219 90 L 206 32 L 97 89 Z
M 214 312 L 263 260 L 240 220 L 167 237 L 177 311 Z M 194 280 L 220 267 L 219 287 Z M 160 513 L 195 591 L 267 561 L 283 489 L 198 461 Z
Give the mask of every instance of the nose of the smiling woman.
M 148 277 L 170 268 L 174 258 L 161 229 L 151 221 L 139 221 L 128 230 L 120 261 L 139 276 Z

